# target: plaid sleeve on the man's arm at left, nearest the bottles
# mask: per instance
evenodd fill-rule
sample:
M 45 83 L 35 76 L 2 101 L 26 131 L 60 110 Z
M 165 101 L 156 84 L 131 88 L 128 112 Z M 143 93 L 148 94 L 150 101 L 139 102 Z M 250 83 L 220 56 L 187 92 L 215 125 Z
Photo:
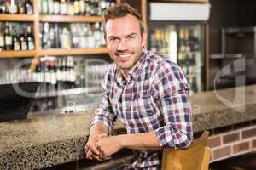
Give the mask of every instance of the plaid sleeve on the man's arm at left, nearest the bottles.
M 107 74 L 102 82 L 102 103 L 96 110 L 96 116 L 92 122 L 90 122 L 90 127 L 92 127 L 96 122 L 102 122 L 106 127 L 108 127 L 108 133 L 113 129 L 113 122 L 116 120 L 116 116 L 113 114 L 113 108 L 110 105 L 108 97 L 108 86 L 109 86 L 109 75 Z

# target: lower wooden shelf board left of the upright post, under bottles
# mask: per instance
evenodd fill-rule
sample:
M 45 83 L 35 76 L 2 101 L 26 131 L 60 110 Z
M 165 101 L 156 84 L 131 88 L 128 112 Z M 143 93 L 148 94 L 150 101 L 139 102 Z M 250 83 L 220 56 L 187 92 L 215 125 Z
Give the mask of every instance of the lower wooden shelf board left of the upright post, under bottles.
M 0 58 L 19 58 L 19 57 L 33 57 L 36 51 L 0 51 Z

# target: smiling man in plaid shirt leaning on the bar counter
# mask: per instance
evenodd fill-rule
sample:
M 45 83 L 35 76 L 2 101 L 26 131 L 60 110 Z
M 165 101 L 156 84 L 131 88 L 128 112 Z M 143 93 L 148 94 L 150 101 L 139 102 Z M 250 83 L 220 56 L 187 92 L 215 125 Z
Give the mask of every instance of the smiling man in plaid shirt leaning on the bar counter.
M 137 150 L 129 169 L 160 169 L 163 147 L 187 147 L 192 140 L 189 87 L 172 61 L 143 49 L 147 33 L 137 10 L 108 8 L 105 41 L 113 59 L 102 89 L 102 105 L 90 124 L 86 157 L 106 160 L 123 148 Z M 113 122 L 127 134 L 108 136 Z

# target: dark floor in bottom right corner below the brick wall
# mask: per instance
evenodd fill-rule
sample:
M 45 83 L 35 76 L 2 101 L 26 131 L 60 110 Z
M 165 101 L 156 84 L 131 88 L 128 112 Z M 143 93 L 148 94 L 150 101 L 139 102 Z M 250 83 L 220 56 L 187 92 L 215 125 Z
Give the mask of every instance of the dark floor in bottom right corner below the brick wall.
M 224 161 L 213 162 L 211 170 L 256 170 L 256 152 L 236 156 Z

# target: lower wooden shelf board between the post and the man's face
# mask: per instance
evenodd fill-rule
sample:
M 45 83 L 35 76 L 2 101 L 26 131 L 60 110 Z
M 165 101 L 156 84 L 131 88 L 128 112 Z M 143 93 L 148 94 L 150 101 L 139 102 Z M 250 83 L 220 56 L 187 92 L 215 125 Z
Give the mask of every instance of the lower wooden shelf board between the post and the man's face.
M 72 49 L 41 49 L 40 56 L 44 55 L 83 55 L 83 54 L 108 54 L 107 48 L 72 48 Z

